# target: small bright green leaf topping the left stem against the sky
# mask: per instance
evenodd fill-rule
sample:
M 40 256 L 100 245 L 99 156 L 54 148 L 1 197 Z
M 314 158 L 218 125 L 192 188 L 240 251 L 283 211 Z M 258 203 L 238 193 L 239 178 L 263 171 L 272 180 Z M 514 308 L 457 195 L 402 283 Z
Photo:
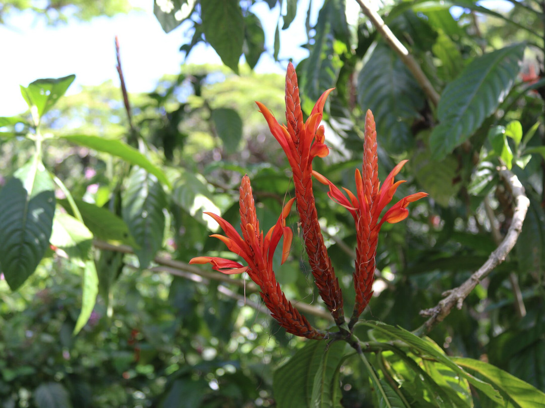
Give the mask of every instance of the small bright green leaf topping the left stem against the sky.
M 21 94 L 31 110 L 35 125 L 40 123 L 40 118 L 64 95 L 75 79 L 76 75 L 68 75 L 58 79 L 39 79 L 26 88 L 21 85 Z

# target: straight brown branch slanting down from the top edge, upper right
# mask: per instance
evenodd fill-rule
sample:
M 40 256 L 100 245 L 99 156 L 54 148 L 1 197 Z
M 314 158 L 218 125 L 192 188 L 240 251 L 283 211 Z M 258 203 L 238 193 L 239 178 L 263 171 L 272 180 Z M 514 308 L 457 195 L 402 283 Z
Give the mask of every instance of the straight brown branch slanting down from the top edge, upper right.
M 409 68 L 411 73 L 414 75 L 416 81 L 419 83 L 420 87 L 427 95 L 429 100 L 432 101 L 434 106 L 437 106 L 440 96 L 433 88 L 432 83 L 429 82 L 428 77 L 426 76 L 426 74 L 424 74 L 424 71 L 422 71 L 422 69 L 420 68 L 419 63 L 416 62 L 416 59 L 414 59 L 414 57 L 410 55 L 407 48 L 403 44 L 401 44 L 401 41 L 399 41 L 397 37 L 393 35 L 390 27 L 388 27 L 384 23 L 384 20 L 378 15 L 378 13 L 374 11 L 370 7 L 370 5 L 368 5 L 368 0 L 356 0 L 356 2 L 358 2 L 361 9 L 364 11 L 364 14 L 368 17 L 369 20 L 371 20 L 373 26 L 384 37 L 390 47 L 392 47 L 392 49 L 397 52 L 397 54 L 401 58 L 401 61 L 403 61 L 403 63 L 407 65 L 407 68 Z

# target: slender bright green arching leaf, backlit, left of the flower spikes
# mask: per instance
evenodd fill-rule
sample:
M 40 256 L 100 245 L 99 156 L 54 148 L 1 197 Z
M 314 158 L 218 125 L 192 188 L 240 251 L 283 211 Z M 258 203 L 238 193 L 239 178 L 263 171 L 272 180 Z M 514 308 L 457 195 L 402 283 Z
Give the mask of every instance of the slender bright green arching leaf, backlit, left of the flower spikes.
M 171 183 L 159 167 L 155 166 L 146 158 L 146 156 L 138 152 L 137 149 L 120 140 L 104 139 L 103 137 L 88 135 L 68 135 L 59 137 L 60 139 L 75 143 L 76 145 L 86 146 L 99 152 L 110 153 L 128 163 L 142 167 L 142 169 L 146 169 L 149 173 L 155 175 L 161 183 L 171 187 Z

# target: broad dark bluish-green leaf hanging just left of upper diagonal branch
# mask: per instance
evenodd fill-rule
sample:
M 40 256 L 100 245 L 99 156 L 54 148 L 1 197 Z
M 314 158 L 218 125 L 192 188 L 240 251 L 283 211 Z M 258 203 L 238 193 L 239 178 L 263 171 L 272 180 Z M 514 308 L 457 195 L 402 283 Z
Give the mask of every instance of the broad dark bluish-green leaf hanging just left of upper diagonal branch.
M 378 137 L 388 152 L 401 153 L 413 145 L 410 127 L 424 101 L 420 86 L 396 53 L 377 45 L 358 75 L 358 103 L 362 111 L 373 112 Z

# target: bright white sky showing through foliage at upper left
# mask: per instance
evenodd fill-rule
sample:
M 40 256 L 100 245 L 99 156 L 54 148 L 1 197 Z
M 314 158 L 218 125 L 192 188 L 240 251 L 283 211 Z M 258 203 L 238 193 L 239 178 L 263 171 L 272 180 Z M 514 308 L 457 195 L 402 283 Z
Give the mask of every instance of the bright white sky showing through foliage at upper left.
M 185 42 L 183 27 L 166 34 L 153 15 L 151 0 L 131 2 L 142 11 L 99 17 L 90 22 L 71 21 L 49 27 L 33 13 L 20 13 L 0 25 L 0 116 L 13 116 L 27 109 L 19 85 L 27 86 L 39 78 L 76 74 L 68 93 L 81 85 L 99 85 L 111 79 L 119 83 L 116 71 L 114 36 L 118 35 L 125 82 L 129 92 L 149 92 L 164 74 L 179 72 L 184 61 L 179 47 Z M 319 10 L 323 1 L 312 2 Z M 280 57 L 299 61 L 307 56 L 305 18 L 308 0 L 299 4 L 292 25 L 281 32 Z M 280 9 L 269 10 L 264 2 L 252 9 L 262 20 L 266 47 L 272 50 L 274 30 Z M 316 13 L 313 13 L 316 16 Z M 266 17 L 266 18 L 263 18 Z M 283 40 L 282 40 L 283 39 Z M 187 58 L 188 63 L 221 63 L 214 50 L 199 44 Z M 282 73 L 285 67 L 262 55 L 258 72 Z

